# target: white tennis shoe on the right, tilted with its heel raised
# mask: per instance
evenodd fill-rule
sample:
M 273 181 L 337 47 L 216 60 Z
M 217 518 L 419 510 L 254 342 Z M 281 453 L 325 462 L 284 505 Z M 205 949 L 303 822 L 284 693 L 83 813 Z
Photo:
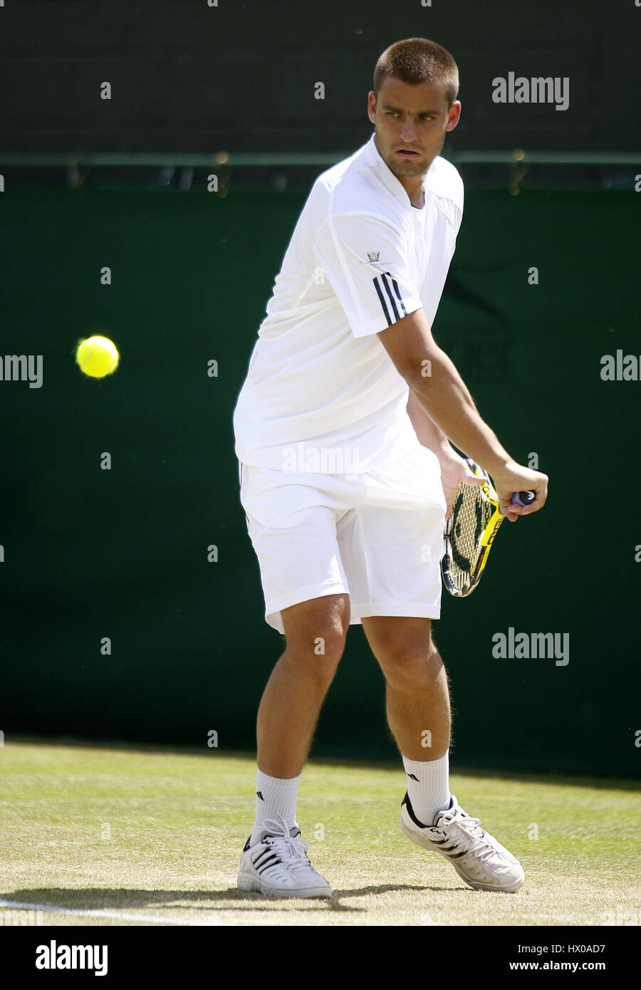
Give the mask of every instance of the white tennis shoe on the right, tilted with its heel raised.
M 498 890 L 513 894 L 523 886 L 525 874 L 516 856 L 481 829 L 481 821 L 459 806 L 452 795 L 447 811 L 440 811 L 431 826 L 414 815 L 405 794 L 400 809 L 400 828 L 408 839 L 447 856 L 459 876 L 475 890 Z

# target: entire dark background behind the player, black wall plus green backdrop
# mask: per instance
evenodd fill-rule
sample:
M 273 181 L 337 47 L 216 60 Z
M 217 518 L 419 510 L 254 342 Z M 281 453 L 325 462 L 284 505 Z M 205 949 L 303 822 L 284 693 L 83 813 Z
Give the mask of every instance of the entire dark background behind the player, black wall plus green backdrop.
M 44 360 L 41 389 L 0 382 L 5 734 L 202 745 L 216 730 L 221 751 L 254 748 L 282 643 L 264 622 L 231 417 L 322 170 L 296 172 L 286 155 L 338 160 L 367 141 L 377 55 L 423 36 L 459 63 L 463 116 L 444 154 L 460 156 L 466 180 L 434 333 L 503 444 L 525 462 L 536 451 L 551 478 L 545 511 L 503 526 L 480 589 L 446 596 L 435 626 L 457 713 L 453 765 L 635 774 L 641 383 L 599 372 L 616 348 L 641 354 L 641 155 L 605 156 L 639 148 L 640 19 L 632 2 L 0 9 L 1 347 Z M 570 108 L 492 103 L 492 78 L 510 70 L 569 76 Z M 515 185 L 513 169 L 475 154 L 513 148 L 594 160 L 533 165 Z M 221 149 L 279 152 L 282 165 L 251 181 L 229 168 L 224 195 L 206 191 L 211 167 L 179 188 L 170 167 L 87 167 L 69 183 L 44 166 L 52 152 L 170 161 Z M 27 168 L 20 152 L 44 157 Z M 103 381 L 73 363 L 78 338 L 96 332 L 121 352 Z M 569 633 L 569 665 L 495 659 L 492 635 L 509 627 Z M 355 627 L 314 753 L 394 752 Z

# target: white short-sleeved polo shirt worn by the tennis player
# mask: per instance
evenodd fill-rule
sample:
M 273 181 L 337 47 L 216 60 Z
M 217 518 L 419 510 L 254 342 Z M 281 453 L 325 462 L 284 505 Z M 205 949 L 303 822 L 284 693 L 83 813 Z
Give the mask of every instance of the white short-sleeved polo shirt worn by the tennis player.
M 276 275 L 234 410 L 258 467 L 358 474 L 417 445 L 409 390 L 376 334 L 421 306 L 432 325 L 463 219 L 445 158 L 413 207 L 370 141 L 318 176 Z

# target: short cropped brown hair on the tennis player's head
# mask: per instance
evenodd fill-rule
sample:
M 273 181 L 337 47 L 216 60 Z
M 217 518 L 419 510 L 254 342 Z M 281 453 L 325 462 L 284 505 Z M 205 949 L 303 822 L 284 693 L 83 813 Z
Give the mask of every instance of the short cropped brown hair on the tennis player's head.
M 386 75 L 417 86 L 420 82 L 445 87 L 448 105 L 459 95 L 459 67 L 447 49 L 427 38 L 406 38 L 385 49 L 374 68 L 374 93 Z

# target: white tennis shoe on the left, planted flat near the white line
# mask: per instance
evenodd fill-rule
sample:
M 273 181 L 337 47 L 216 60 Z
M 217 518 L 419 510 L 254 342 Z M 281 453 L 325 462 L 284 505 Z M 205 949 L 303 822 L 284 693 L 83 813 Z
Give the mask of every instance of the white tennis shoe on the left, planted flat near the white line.
M 327 880 L 312 868 L 300 829 L 290 832 L 283 819 L 269 819 L 259 841 L 250 845 L 250 839 L 241 857 L 239 890 L 258 890 L 266 897 L 332 896 Z

